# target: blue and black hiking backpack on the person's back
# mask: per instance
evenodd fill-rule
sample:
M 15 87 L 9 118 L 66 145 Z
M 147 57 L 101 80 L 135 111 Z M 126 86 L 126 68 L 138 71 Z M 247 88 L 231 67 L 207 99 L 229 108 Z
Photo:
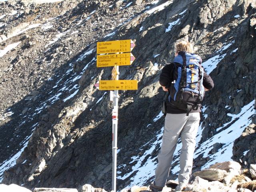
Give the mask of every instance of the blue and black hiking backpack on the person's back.
M 200 56 L 184 51 L 178 52 L 178 56 L 174 58 L 169 102 L 185 110 L 187 116 L 192 109 L 198 109 L 204 98 L 204 69 L 201 63 Z

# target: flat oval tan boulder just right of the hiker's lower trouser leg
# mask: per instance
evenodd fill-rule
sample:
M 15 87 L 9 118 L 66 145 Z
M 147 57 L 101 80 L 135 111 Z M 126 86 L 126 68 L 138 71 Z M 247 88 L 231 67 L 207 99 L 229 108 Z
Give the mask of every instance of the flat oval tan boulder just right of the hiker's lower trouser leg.
M 225 170 L 220 169 L 205 169 L 202 171 L 195 172 L 193 176 L 199 176 L 200 178 L 207 179 L 210 181 L 222 181 L 228 173 Z

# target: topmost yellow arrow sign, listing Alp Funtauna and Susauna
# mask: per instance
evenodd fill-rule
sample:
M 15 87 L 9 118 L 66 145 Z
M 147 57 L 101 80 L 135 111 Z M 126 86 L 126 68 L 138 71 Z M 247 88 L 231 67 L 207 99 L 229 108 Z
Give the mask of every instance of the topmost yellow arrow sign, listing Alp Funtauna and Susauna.
M 97 54 L 131 52 L 134 47 L 131 39 L 97 42 Z

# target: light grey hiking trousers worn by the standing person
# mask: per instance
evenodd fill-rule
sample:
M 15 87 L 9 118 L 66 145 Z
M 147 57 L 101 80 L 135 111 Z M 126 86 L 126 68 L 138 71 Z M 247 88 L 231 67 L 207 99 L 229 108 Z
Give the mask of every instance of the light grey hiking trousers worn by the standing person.
M 166 184 L 179 135 L 182 141 L 182 149 L 178 182 L 188 184 L 192 171 L 199 121 L 199 112 L 190 113 L 188 116 L 186 114 L 166 114 L 162 146 L 158 154 L 158 166 L 155 172 L 156 186 L 162 187 Z

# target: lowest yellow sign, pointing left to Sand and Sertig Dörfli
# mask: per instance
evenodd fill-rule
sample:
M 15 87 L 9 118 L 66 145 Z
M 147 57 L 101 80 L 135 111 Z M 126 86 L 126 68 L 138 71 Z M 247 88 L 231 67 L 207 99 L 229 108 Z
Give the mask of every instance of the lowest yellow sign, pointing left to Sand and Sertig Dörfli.
M 99 90 L 137 90 L 137 80 L 100 80 L 95 86 Z

